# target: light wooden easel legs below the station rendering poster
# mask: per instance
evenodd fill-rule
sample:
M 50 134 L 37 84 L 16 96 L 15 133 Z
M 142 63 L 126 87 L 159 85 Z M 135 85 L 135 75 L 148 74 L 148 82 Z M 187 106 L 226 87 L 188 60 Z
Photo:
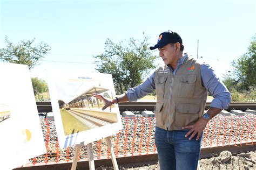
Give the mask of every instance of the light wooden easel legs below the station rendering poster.
M 107 146 L 109 147 L 110 150 L 110 155 L 111 155 L 111 160 L 112 160 L 112 164 L 114 169 L 118 169 L 118 165 L 117 165 L 117 160 L 116 157 L 114 155 L 114 150 L 113 150 L 113 146 L 112 146 L 112 142 L 111 142 L 111 138 L 110 137 L 106 137 L 106 142 L 107 142 Z M 73 163 L 72 163 L 72 167 L 71 170 L 76 170 L 77 167 L 77 160 L 78 160 L 78 155 L 80 152 L 80 148 L 81 148 L 81 144 L 76 145 L 76 152 L 75 155 L 73 157 Z M 87 144 L 87 151 L 88 151 L 88 161 L 89 161 L 89 167 L 90 170 L 94 170 L 95 169 L 95 165 L 94 165 L 94 160 L 93 160 L 93 150 L 92 150 L 92 143 Z

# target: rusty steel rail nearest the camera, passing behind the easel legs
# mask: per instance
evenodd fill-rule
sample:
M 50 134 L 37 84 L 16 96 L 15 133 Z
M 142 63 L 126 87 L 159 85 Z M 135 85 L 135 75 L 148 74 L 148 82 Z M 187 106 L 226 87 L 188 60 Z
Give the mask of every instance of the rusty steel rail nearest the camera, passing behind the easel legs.
M 254 141 L 255 143 L 256 141 Z M 237 154 L 241 152 L 254 151 L 255 144 L 247 144 L 242 143 L 239 145 L 230 144 L 224 146 L 212 146 L 212 147 L 202 147 L 200 158 L 211 158 L 213 156 L 218 155 L 222 151 L 230 151 L 232 154 Z M 149 153 L 149 154 L 134 154 L 134 155 L 119 155 L 117 158 L 117 164 L 119 167 L 134 167 L 134 166 L 145 166 L 149 164 L 157 164 L 158 163 L 158 155 L 157 153 Z M 112 167 L 112 161 L 109 158 L 102 157 L 100 159 L 95 159 L 95 167 Z M 55 169 L 70 169 L 72 165 L 72 161 L 58 161 L 53 164 L 46 165 L 44 162 L 33 164 L 23 165 L 22 170 L 55 170 Z M 78 161 L 77 163 L 78 169 L 89 169 L 89 160 L 83 159 Z M 111 168 L 112 169 L 112 168 Z

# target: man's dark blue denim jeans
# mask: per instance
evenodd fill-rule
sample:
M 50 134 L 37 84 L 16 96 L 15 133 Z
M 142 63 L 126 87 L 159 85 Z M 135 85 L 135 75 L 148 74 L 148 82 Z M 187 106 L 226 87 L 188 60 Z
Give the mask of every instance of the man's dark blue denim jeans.
M 199 140 L 196 140 L 196 136 L 188 140 L 185 138 L 188 131 L 166 131 L 156 127 L 154 140 L 161 170 L 197 169 L 203 134 Z

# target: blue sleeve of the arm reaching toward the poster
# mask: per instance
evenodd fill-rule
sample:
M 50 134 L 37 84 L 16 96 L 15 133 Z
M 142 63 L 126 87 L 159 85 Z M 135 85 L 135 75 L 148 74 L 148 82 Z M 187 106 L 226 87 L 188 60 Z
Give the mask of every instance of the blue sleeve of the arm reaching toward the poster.
M 129 98 L 129 102 L 136 101 L 139 98 L 146 96 L 149 93 L 152 93 L 156 89 L 156 84 L 154 84 L 154 73 L 146 79 L 139 86 L 129 88 L 125 93 Z

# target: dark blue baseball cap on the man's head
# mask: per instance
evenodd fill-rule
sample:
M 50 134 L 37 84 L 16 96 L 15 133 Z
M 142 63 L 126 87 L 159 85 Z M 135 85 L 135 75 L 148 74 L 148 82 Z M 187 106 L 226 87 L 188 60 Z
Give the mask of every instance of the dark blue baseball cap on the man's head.
M 179 42 L 180 44 L 182 44 L 182 39 L 180 38 L 177 32 L 172 32 L 172 31 L 163 32 L 159 35 L 157 44 L 150 47 L 150 49 L 161 48 L 169 43 L 176 43 L 176 42 Z

